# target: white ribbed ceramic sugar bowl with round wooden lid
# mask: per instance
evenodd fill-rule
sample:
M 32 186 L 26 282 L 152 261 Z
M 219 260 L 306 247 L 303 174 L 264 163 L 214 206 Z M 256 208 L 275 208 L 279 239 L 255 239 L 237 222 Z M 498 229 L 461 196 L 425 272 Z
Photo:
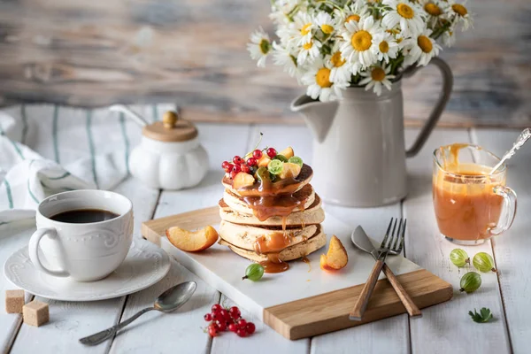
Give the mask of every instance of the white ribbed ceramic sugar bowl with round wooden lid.
M 131 116 L 131 112 L 128 113 Z M 155 189 L 196 186 L 203 180 L 208 165 L 208 155 L 199 143 L 197 128 L 171 111 L 165 112 L 162 121 L 143 124 L 142 142 L 129 158 L 131 174 Z

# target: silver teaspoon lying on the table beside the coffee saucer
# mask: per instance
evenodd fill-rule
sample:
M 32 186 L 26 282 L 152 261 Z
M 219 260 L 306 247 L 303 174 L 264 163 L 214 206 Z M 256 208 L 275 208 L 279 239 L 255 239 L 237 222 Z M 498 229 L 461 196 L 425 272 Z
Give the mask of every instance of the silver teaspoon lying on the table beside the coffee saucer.
M 136 312 L 129 319 L 120 322 L 116 326 L 107 328 L 94 335 L 81 338 L 80 342 L 85 345 L 97 345 L 101 342 L 104 342 L 115 335 L 116 332 L 118 332 L 121 328 L 126 327 L 129 323 L 133 322 L 135 319 L 138 319 L 144 313 L 150 312 L 152 310 L 157 310 L 160 312 L 173 312 L 181 307 L 184 303 L 189 301 L 190 297 L 192 297 L 196 291 L 196 288 L 197 284 L 195 281 L 181 282 L 181 284 L 175 285 L 173 288 L 167 289 L 164 293 L 160 294 L 152 307 L 148 307 L 140 312 Z

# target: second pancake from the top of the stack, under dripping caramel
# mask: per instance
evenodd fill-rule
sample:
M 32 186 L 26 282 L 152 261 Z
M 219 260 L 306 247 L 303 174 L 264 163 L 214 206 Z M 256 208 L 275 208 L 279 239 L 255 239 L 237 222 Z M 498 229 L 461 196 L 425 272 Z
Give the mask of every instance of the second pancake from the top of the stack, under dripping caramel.
M 299 189 L 292 195 L 292 200 L 286 200 L 288 196 L 274 196 L 272 197 L 273 205 L 282 205 L 285 204 L 283 202 L 288 201 L 289 203 L 292 203 L 292 201 L 296 201 L 297 203 L 301 203 L 300 205 L 296 205 L 294 207 L 289 207 L 289 211 L 293 211 L 296 209 L 297 211 L 300 211 L 304 207 L 304 209 L 308 209 L 310 206 L 312 206 L 313 202 L 315 201 L 315 192 L 313 191 L 311 184 L 306 184 L 302 189 Z M 259 197 L 257 196 L 250 196 L 248 197 L 248 200 L 250 203 L 259 202 Z M 229 189 L 225 189 L 225 193 L 223 194 L 223 201 L 227 206 L 229 206 L 234 212 L 238 212 L 240 214 L 249 214 L 254 215 L 253 209 L 250 207 L 249 204 L 246 203 L 243 196 L 235 195 L 233 192 L 231 192 Z M 304 202 L 304 204 L 302 204 Z M 289 204 L 286 204 L 289 206 Z

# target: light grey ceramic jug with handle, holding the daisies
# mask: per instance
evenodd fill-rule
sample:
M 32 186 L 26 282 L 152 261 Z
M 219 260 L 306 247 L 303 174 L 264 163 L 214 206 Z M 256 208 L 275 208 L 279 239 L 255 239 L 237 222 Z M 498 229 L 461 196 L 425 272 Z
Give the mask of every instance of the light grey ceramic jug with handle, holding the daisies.
M 401 81 L 381 96 L 365 88 L 347 89 L 341 101 L 321 103 L 299 96 L 291 110 L 303 113 L 315 136 L 312 184 L 323 200 L 344 206 L 391 204 L 407 194 L 405 158 L 422 148 L 450 98 L 450 67 L 433 58 L 443 73 L 443 90 L 410 150 L 404 147 L 404 98 Z M 406 70 L 410 76 L 417 67 Z M 428 163 L 428 162 L 427 162 Z

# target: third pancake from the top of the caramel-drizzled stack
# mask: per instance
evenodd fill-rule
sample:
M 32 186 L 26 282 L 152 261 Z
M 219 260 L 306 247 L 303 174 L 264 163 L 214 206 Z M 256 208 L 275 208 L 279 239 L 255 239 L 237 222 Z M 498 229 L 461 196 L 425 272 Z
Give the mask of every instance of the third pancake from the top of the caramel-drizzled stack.
M 253 225 L 262 227 L 281 227 L 283 218 L 273 216 L 260 221 L 252 214 L 235 212 L 231 209 L 223 199 L 219 200 L 219 216 L 222 220 L 232 222 L 240 225 Z M 321 208 L 321 200 L 319 195 L 315 194 L 313 204 L 304 212 L 292 212 L 286 217 L 287 227 L 299 227 L 301 225 L 316 225 L 325 220 L 325 212 Z

